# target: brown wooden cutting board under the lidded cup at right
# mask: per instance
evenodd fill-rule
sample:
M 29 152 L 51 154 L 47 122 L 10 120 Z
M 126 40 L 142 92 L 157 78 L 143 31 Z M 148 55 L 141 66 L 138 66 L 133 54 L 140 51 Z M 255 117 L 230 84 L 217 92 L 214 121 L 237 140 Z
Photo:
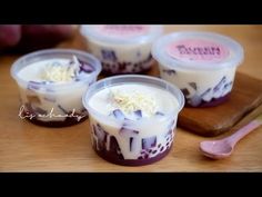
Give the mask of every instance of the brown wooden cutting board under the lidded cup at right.
M 183 108 L 178 126 L 194 134 L 221 135 L 262 104 L 262 80 L 236 72 L 230 99 L 216 107 Z

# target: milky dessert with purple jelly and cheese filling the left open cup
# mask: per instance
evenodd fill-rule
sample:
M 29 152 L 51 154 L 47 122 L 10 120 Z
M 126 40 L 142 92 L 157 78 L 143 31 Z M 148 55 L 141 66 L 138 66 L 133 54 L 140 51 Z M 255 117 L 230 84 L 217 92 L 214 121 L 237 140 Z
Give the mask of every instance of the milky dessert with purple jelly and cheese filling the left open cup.
M 22 106 L 20 117 L 62 127 L 87 119 L 81 98 L 97 80 L 98 68 L 72 55 L 30 62 L 17 72 Z M 47 125 L 46 125 L 46 124 Z M 57 125 L 56 125 L 57 124 Z

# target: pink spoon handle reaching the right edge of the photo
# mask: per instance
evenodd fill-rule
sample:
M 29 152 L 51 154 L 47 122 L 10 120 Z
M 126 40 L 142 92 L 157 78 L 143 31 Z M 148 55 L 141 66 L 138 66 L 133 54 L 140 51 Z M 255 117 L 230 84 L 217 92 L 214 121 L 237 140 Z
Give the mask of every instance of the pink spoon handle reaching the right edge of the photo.
M 246 136 L 261 125 L 262 125 L 261 121 L 253 120 L 250 124 L 242 127 L 241 129 L 239 129 L 232 136 L 228 137 L 228 139 L 232 145 L 235 145 L 240 139 L 242 139 L 244 136 Z

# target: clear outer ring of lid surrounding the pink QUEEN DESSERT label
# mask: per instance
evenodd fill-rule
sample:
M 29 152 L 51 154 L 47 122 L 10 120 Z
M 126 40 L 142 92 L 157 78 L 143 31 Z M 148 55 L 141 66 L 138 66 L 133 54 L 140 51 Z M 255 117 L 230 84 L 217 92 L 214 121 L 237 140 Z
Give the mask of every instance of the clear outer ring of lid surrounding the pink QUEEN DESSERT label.
M 201 38 L 201 39 L 210 39 L 216 41 L 218 43 L 222 43 L 226 48 L 232 51 L 233 56 L 226 58 L 219 62 L 195 62 L 195 61 L 183 61 L 179 59 L 174 59 L 169 56 L 165 50 L 163 50 L 167 45 L 171 41 L 180 40 L 187 38 Z M 234 39 L 223 36 L 220 33 L 211 32 L 211 31 L 177 31 L 173 33 L 165 35 L 157 39 L 151 49 L 152 56 L 155 60 L 158 60 L 161 65 L 170 69 L 187 69 L 187 70 L 220 70 L 224 68 L 239 67 L 244 59 L 244 50 L 243 47 L 235 41 Z

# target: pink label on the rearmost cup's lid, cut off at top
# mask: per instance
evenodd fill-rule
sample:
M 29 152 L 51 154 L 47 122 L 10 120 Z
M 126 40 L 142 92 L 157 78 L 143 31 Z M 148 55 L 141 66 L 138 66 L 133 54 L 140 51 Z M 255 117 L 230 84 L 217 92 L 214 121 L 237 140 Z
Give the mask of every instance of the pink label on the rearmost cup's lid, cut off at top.
M 102 24 L 95 27 L 95 31 L 98 33 L 111 38 L 133 38 L 138 36 L 143 36 L 148 33 L 149 30 L 149 26 L 140 24 Z

